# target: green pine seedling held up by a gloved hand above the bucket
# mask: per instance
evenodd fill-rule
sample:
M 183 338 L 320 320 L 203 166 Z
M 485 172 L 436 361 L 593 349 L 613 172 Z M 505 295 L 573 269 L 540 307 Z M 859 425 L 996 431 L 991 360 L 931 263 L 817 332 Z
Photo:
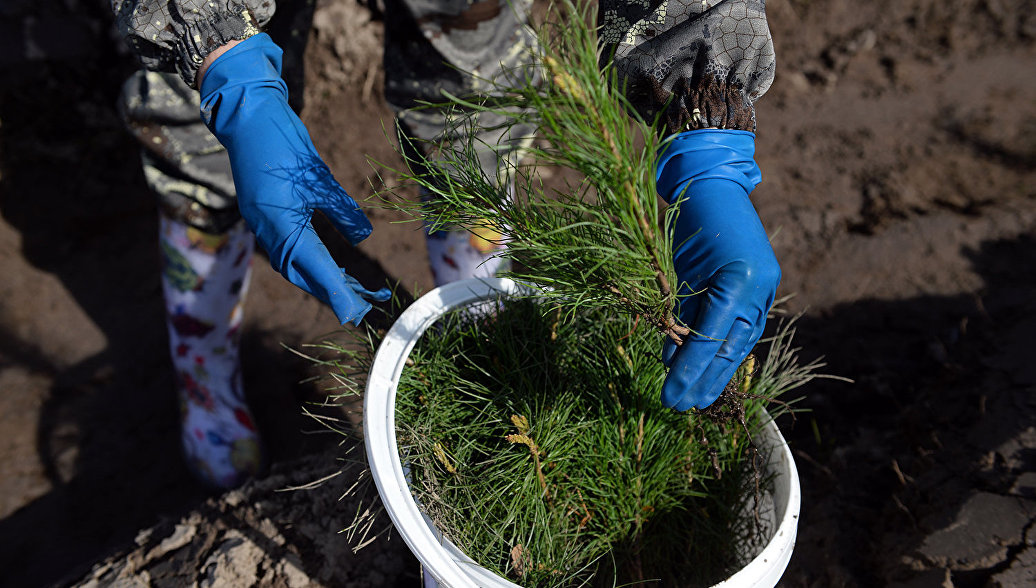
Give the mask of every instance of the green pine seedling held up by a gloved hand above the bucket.
M 449 95 L 449 104 L 428 105 L 450 113 L 448 136 L 468 140 L 404 149 L 433 153 L 411 155 L 411 171 L 402 173 L 433 196 L 421 205 L 391 200 L 432 229 L 502 235 L 501 256 L 515 262 L 509 276 L 544 289 L 565 312 L 593 306 L 642 317 L 682 341 L 689 330 L 672 313 L 677 207 L 661 213 L 655 192 L 660 140 L 631 116 L 611 68 L 599 65 L 597 30 L 587 24 L 595 18 L 593 7 L 580 10 L 565 0 L 552 12 L 554 24 L 541 30 L 542 66 L 506 77 L 521 83 L 484 81 L 488 90 L 478 97 Z M 480 145 L 469 131 L 485 114 L 503 117 L 512 128 L 536 128 L 523 152 L 531 164 L 510 161 L 500 177 L 486 175 L 478 152 L 498 146 Z M 539 174 L 545 167 L 571 170 L 577 179 L 547 187 Z

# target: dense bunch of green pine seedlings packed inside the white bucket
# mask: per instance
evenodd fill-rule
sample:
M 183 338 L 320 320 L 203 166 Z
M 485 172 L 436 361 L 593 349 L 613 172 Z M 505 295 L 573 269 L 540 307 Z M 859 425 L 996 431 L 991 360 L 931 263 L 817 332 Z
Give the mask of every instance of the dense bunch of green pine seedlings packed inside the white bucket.
M 524 587 L 708 586 L 773 532 L 750 431 L 811 377 L 790 330 L 731 387 L 738 415 L 658 400 L 661 336 L 629 316 L 500 298 L 448 314 L 396 396 L 411 492 L 445 537 Z M 721 401 L 722 402 L 722 401 Z M 718 407 L 716 410 L 729 410 Z M 766 514 L 762 512 L 761 514 Z

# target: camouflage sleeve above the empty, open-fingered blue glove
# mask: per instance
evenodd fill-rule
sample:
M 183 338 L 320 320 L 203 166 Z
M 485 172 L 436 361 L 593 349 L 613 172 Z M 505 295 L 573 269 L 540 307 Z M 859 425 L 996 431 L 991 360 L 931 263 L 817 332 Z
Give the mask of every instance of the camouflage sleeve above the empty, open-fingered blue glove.
M 194 86 L 205 56 L 260 31 L 275 0 L 111 0 L 130 49 L 152 71 L 176 71 Z

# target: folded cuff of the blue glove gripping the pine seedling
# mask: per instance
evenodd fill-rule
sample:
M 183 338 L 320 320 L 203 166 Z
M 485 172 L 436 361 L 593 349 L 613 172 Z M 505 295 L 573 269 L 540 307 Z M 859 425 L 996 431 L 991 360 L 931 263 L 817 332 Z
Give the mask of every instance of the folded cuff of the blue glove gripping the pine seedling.
M 687 184 L 725 179 L 751 193 L 762 179 L 755 164 L 755 134 L 748 130 L 702 128 L 673 135 L 659 148 L 656 189 L 673 204 Z

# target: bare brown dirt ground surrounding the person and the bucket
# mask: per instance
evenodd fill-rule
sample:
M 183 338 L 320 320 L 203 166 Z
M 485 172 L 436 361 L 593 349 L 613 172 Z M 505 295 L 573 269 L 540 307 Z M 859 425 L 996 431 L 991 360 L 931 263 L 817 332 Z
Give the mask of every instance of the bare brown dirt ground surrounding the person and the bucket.
M 1026 9 L 1026 8 L 1029 9 Z M 753 194 L 817 383 L 781 422 L 803 478 L 787 586 L 1036 583 L 1036 18 L 1021 0 L 771 0 L 778 77 Z M 371 194 L 395 161 L 381 24 L 321 0 L 304 119 Z M 114 113 L 132 70 L 104 2 L 0 6 L 0 585 L 414 586 L 402 541 L 352 554 L 351 470 L 301 415 L 282 344 L 332 314 L 263 263 L 247 389 L 274 464 L 212 496 L 177 450 L 155 208 Z M 392 178 L 388 178 L 392 181 Z M 336 252 L 427 290 L 412 225 Z M 348 443 L 346 443 L 348 444 Z

